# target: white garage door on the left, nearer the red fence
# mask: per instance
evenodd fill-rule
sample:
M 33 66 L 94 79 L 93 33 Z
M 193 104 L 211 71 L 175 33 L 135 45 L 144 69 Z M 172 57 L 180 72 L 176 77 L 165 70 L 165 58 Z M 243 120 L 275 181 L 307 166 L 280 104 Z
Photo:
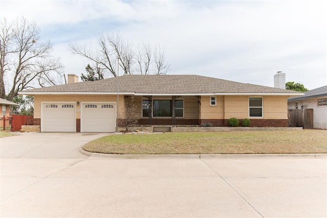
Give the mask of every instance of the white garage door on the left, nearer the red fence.
M 41 120 L 42 132 L 76 132 L 76 105 L 43 103 Z

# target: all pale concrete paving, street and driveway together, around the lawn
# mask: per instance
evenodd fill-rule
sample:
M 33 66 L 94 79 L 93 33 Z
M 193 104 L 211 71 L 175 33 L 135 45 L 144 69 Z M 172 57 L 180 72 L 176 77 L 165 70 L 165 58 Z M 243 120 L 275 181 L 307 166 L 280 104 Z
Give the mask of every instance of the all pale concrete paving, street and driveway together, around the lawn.
M 0 138 L 0 217 L 327 216 L 326 155 L 121 159 L 79 152 L 103 135 Z

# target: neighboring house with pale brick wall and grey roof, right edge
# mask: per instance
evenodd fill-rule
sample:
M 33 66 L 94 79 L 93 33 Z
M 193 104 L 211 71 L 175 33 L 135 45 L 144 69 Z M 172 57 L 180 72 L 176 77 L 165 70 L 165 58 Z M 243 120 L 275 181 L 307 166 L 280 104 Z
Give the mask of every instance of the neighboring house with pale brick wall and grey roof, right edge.
M 302 111 L 313 110 L 313 128 L 327 129 L 327 86 L 304 92 L 304 95 L 288 99 L 289 110 L 301 110 L 301 118 L 305 114 Z

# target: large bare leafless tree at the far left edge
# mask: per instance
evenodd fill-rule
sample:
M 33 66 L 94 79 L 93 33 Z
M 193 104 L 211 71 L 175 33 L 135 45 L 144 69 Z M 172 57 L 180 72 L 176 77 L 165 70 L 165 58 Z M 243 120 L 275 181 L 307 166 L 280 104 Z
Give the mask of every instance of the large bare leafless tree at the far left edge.
M 28 88 L 59 83 L 63 65 L 51 56 L 50 41 L 40 41 L 40 28 L 35 22 L 18 17 L 13 22 L 0 20 L 0 97 L 6 95 L 5 76 L 11 79 L 7 99 L 12 101 Z

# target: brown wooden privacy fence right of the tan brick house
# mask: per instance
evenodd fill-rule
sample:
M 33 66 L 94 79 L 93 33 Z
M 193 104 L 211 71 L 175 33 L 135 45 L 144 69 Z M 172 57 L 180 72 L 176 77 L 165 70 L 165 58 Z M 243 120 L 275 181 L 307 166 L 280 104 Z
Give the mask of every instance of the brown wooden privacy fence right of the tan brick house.
M 313 129 L 313 109 L 289 109 L 288 126 Z

